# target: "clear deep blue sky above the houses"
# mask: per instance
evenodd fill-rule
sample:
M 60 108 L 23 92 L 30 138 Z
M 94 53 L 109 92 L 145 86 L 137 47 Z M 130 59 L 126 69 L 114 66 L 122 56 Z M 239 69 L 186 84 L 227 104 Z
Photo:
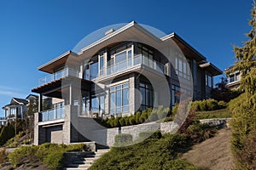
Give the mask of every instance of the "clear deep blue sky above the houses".
M 104 26 L 136 20 L 166 34 L 175 31 L 221 70 L 234 63 L 232 44 L 241 45 L 250 30 L 250 0 L 88 2 L 0 1 L 1 107 L 38 86 L 46 76 L 39 65 Z

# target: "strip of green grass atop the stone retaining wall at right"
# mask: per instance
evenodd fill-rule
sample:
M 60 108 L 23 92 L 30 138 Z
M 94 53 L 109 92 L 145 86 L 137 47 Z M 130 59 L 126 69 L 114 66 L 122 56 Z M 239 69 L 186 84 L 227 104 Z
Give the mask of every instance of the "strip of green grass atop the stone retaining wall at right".
M 231 116 L 232 114 L 228 109 L 221 109 L 216 111 L 196 111 L 194 120 L 198 121 L 201 119 L 227 118 Z

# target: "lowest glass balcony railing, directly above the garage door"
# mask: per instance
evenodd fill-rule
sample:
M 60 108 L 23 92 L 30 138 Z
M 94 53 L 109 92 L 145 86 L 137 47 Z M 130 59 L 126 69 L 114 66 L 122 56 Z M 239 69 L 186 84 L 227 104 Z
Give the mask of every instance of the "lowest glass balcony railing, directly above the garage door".
M 65 106 L 41 112 L 42 122 L 64 118 Z

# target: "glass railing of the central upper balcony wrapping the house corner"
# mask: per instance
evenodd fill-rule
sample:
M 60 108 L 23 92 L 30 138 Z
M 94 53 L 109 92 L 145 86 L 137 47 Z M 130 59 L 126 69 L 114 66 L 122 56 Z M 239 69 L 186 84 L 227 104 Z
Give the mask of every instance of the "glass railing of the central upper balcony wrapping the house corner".
M 125 71 L 126 69 L 129 69 L 136 65 L 146 65 L 149 68 L 153 69 L 154 71 L 158 71 L 160 73 L 166 74 L 166 66 L 165 65 L 163 65 L 153 59 L 148 59 L 147 56 L 138 54 L 138 55 L 134 56 L 133 59 L 128 59 L 128 60 L 119 62 L 115 65 L 108 66 L 107 75 L 112 75 L 119 71 Z

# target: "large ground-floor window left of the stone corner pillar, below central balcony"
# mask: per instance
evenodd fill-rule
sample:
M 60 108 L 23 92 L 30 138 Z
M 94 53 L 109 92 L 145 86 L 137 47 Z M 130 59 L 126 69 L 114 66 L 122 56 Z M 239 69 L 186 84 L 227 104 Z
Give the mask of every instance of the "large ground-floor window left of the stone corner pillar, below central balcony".
M 129 83 L 119 84 L 110 88 L 110 114 L 121 116 L 129 112 Z

